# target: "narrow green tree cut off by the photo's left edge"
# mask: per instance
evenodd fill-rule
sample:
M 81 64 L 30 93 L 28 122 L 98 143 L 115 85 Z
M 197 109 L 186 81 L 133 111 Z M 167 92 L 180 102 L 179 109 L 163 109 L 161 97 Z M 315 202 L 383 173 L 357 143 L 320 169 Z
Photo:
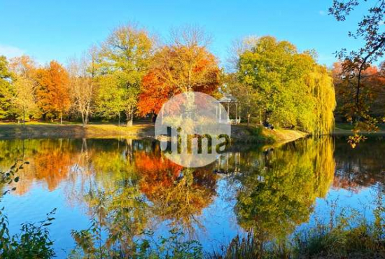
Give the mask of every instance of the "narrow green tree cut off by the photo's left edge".
M 0 56 L 0 118 L 7 118 L 10 115 L 13 96 L 11 80 L 12 73 L 8 69 L 7 59 Z

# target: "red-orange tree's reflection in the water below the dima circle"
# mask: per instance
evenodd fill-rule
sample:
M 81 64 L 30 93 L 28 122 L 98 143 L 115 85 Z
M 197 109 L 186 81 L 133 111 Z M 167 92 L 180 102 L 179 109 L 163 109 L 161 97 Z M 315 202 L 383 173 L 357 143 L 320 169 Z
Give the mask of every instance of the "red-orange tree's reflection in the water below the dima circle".
M 216 194 L 216 176 L 211 167 L 186 169 L 153 153 L 135 154 L 141 175 L 141 191 L 152 202 L 153 213 L 161 221 L 169 220 L 191 230 L 202 209 L 211 204 Z

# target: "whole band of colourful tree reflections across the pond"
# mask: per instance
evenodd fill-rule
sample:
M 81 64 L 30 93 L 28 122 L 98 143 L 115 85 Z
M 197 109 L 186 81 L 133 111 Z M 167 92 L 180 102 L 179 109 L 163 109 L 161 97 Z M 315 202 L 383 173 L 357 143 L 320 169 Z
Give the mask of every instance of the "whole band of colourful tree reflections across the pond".
M 384 145 L 374 147 L 368 141 L 352 151 L 337 140 L 335 186 L 384 183 Z M 62 188 L 70 204 L 97 215 L 114 235 L 124 230 L 119 238 L 127 242 L 156 223 L 187 230 L 200 225 L 200 215 L 214 201 L 217 181 L 225 174 L 225 181 L 234 183 L 239 225 L 268 239 L 284 237 L 309 219 L 316 197 L 324 197 L 333 181 L 333 151 L 334 142 L 327 138 L 274 149 L 235 146 L 213 165 L 184 169 L 150 140 L 13 140 L 0 141 L 0 167 L 17 159 L 31 162 L 22 172 L 19 195 L 34 182 L 50 191 Z

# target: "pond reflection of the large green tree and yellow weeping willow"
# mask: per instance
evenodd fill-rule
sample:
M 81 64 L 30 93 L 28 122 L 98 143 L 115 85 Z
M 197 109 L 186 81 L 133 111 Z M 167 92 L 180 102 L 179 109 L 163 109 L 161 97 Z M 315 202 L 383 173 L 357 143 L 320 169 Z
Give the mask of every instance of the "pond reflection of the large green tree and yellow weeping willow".
M 316 197 L 332 183 L 333 149 L 331 139 L 307 139 L 258 155 L 254 167 L 237 176 L 239 225 L 266 240 L 286 237 L 308 221 Z

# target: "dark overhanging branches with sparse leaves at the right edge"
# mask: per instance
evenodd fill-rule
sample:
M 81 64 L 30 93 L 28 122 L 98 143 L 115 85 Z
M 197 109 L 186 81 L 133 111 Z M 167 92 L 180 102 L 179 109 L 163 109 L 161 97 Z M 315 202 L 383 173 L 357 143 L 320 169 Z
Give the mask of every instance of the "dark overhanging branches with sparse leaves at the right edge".
M 361 3 L 360 0 L 333 0 L 332 7 L 329 8 L 330 15 L 337 21 L 344 21 Z M 360 140 L 365 139 L 359 134 L 361 130 L 377 131 L 379 120 L 370 116 L 370 103 L 365 102 L 365 89 L 363 86 L 363 72 L 383 57 L 385 50 L 385 31 L 381 29 L 384 23 L 385 1 L 374 1 L 358 22 L 356 31 L 349 31 L 349 36 L 354 39 L 363 40 L 363 45 L 358 50 L 348 51 L 343 48 L 336 53 L 337 57 L 344 61 L 342 69 L 345 74 L 355 76 L 352 80 L 354 94 L 351 98 L 351 105 L 348 120 L 354 123 L 353 136 L 349 137 L 349 142 L 355 146 Z M 350 87 L 350 86 L 348 86 Z M 364 93 L 363 93 L 364 92 Z

